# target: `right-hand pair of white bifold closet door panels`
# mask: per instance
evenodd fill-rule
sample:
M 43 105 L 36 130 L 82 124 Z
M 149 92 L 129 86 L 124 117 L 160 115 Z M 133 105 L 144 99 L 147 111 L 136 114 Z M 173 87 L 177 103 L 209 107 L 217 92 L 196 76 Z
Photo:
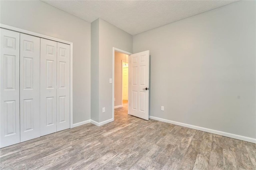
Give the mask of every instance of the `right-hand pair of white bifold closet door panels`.
M 70 45 L 41 38 L 41 136 L 70 128 Z

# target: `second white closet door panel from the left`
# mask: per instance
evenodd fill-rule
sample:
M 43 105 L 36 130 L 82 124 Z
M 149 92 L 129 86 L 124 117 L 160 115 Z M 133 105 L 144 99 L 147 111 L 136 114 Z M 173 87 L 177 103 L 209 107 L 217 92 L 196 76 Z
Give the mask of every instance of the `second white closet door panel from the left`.
M 40 137 L 40 38 L 20 34 L 20 142 Z

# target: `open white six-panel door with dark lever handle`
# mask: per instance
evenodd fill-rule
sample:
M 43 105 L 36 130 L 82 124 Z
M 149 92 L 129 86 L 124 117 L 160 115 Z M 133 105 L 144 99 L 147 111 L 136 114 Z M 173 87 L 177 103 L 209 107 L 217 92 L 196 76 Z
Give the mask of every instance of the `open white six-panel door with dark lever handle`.
M 149 117 L 149 51 L 130 55 L 129 114 Z

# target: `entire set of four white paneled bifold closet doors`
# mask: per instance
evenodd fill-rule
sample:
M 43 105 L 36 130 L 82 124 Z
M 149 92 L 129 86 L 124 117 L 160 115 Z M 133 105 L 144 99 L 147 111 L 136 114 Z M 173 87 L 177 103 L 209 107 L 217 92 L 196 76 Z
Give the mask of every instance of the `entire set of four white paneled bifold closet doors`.
M 0 28 L 0 148 L 70 128 L 70 45 Z

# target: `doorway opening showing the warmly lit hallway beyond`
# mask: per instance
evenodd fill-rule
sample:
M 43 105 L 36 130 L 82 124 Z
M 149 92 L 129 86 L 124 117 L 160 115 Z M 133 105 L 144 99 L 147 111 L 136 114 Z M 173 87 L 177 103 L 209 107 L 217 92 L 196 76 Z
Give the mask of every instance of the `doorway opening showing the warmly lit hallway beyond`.
M 113 48 L 113 119 L 129 113 L 129 56 L 131 53 Z

